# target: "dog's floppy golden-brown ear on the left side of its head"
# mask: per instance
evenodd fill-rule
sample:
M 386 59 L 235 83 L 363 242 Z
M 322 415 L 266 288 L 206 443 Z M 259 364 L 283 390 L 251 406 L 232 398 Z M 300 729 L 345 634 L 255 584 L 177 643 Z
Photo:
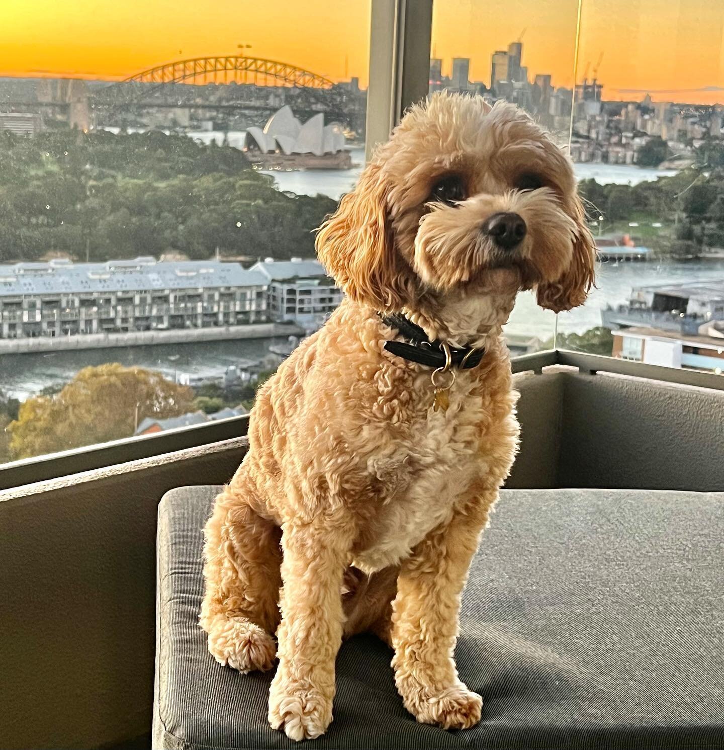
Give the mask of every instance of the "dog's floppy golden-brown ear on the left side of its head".
M 352 193 L 319 228 L 317 257 L 337 284 L 356 302 L 378 311 L 399 310 L 407 299 L 387 215 L 387 187 L 378 164 L 366 167 Z

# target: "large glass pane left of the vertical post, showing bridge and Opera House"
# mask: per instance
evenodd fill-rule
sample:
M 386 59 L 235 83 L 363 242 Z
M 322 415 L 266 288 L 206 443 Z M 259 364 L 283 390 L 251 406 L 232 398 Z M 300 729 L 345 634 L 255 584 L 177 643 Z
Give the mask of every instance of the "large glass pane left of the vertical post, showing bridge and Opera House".
M 334 309 L 369 10 L 4 8 L 0 463 L 243 413 Z

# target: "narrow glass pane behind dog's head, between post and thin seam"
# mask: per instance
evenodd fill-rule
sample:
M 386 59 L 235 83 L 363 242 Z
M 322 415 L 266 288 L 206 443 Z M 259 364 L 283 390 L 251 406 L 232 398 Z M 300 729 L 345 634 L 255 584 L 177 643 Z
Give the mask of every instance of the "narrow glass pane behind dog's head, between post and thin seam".
M 576 52 L 577 0 L 435 2 L 429 90 L 504 99 L 567 145 Z M 552 348 L 555 314 L 521 293 L 504 335 L 513 355 Z

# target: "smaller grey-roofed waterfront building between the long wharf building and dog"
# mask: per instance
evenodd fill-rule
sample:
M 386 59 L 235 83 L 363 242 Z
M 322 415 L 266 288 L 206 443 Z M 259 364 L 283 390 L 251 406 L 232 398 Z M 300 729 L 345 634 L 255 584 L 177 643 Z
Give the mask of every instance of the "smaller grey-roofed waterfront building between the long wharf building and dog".
M 267 258 L 250 271 L 261 274 L 269 287 L 269 314 L 280 322 L 293 320 L 298 326 L 315 331 L 342 302 L 342 290 L 334 286 L 316 259 Z

